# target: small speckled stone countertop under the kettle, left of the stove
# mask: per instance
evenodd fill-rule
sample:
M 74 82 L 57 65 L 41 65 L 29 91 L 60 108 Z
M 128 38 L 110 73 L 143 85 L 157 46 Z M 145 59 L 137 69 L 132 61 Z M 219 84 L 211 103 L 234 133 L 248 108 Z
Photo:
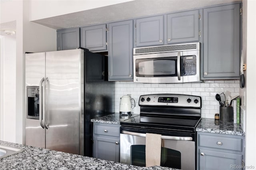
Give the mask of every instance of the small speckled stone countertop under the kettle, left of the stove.
M 130 118 L 138 116 L 138 115 L 139 114 L 120 115 L 120 113 L 113 113 L 111 115 L 106 115 L 106 116 L 103 116 L 103 117 L 98 117 L 98 118 L 95 118 L 95 119 L 91 119 L 91 122 L 120 125 L 120 121 L 124 121 L 126 119 L 130 119 Z

